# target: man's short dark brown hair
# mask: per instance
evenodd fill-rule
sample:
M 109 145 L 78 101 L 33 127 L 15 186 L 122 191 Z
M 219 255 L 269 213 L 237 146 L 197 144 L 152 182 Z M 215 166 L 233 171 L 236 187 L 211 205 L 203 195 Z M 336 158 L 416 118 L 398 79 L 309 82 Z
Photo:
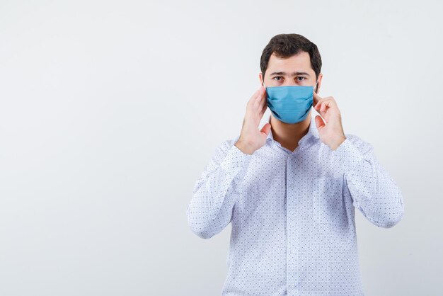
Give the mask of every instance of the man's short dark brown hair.
M 271 38 L 260 58 L 260 69 L 263 77 L 265 76 L 267 63 L 272 53 L 277 57 L 286 59 L 297 55 L 301 51 L 309 53 L 311 67 L 313 72 L 316 73 L 316 78 L 318 78 L 318 74 L 321 72 L 321 56 L 317 45 L 299 34 L 279 34 Z

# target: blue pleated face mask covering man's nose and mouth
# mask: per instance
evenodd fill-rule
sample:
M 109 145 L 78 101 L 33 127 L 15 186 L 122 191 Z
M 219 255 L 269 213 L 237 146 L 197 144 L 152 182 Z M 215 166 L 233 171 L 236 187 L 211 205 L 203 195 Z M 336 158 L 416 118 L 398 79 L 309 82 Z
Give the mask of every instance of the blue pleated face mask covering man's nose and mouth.
M 311 110 L 315 86 L 266 87 L 267 106 L 275 118 L 283 123 L 299 123 L 306 119 Z

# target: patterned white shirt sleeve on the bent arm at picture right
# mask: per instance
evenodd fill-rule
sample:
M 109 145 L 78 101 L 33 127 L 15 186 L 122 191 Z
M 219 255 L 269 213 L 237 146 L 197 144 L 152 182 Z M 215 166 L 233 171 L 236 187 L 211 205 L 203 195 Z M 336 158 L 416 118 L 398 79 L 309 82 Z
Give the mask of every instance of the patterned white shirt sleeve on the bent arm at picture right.
M 333 152 L 344 173 L 352 205 L 372 224 L 390 228 L 404 215 L 403 196 L 396 182 L 374 154 L 374 147 L 355 135 Z

